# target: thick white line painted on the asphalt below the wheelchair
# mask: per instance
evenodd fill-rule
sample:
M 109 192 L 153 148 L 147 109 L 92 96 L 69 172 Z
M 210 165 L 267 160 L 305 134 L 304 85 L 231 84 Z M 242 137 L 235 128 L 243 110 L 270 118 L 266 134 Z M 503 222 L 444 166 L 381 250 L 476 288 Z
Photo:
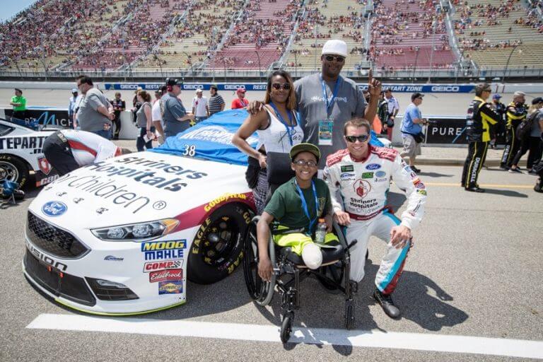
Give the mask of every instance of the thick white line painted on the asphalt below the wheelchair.
M 279 327 L 272 325 L 185 320 L 40 314 L 30 322 L 27 328 L 280 342 Z M 543 359 L 543 341 L 520 339 L 296 327 L 290 341 L 304 344 L 334 344 Z

